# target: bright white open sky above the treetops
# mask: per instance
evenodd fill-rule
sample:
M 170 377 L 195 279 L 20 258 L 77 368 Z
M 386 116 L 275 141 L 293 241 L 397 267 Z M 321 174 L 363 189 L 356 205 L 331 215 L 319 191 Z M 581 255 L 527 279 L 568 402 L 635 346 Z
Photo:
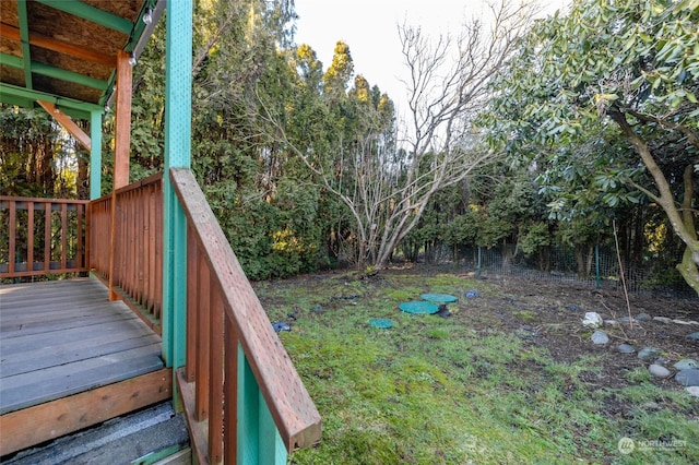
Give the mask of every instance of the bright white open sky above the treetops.
M 541 0 L 553 13 L 565 0 Z M 464 22 L 487 15 L 483 0 L 295 0 L 296 44 L 308 44 L 323 63 L 332 63 L 337 40 L 350 46 L 355 74 L 405 109 L 406 67 L 401 55 L 399 24 L 422 27 L 430 37 L 457 35 Z

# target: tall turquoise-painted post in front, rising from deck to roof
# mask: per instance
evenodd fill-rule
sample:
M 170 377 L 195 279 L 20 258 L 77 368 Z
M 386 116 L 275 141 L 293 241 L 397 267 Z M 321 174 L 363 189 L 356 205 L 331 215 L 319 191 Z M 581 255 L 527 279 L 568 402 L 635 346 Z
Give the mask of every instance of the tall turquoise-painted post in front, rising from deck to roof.
M 187 220 L 170 183 L 170 168 L 191 157 L 192 0 L 167 3 L 165 52 L 165 164 L 163 174 L 163 357 L 185 365 Z

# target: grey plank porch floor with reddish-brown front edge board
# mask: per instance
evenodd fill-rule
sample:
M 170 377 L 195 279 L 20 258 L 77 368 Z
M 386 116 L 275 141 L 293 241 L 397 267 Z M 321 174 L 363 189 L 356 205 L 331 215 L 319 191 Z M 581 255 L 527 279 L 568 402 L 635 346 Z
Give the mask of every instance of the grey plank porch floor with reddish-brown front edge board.
M 0 286 L 0 455 L 169 398 L 170 383 L 161 337 L 99 281 Z

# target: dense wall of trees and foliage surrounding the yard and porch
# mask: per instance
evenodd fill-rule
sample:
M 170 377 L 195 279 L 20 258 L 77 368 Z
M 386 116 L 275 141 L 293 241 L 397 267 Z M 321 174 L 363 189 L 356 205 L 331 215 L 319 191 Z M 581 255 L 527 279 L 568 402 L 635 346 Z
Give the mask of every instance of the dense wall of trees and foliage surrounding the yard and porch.
M 403 26 L 414 133 L 350 44 L 324 65 L 294 43 L 293 1 L 196 8 L 192 168 L 251 278 L 467 246 L 548 271 L 561 243 L 587 276 L 616 230 L 625 265 L 699 283 L 697 0 L 577 0 L 536 22 L 503 2 L 458 40 Z M 163 165 L 164 37 L 134 68 L 131 180 Z M 85 196 L 85 156 L 46 115 L 5 106 L 0 126 L 0 193 Z

